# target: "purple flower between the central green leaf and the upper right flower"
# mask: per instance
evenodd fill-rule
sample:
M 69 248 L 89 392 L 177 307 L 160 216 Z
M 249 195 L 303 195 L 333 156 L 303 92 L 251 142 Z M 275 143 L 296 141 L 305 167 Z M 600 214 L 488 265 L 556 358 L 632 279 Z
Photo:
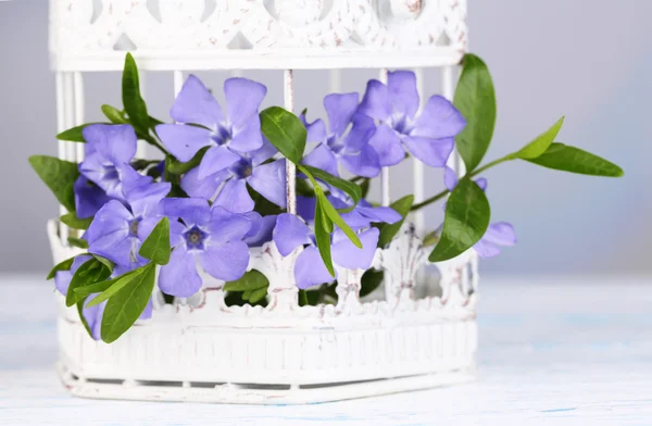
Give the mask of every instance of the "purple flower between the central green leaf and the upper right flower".
M 319 142 L 305 156 L 303 161 L 305 164 L 339 176 L 337 167 L 339 160 L 355 175 L 378 176 L 380 173 L 378 154 L 368 143 L 376 125 L 373 118 L 355 113 L 358 101 L 358 93 L 333 93 L 325 97 L 324 109 L 328 114 L 328 130 L 322 120 L 308 124 L 305 116 L 301 115 L 308 129 L 308 141 Z

